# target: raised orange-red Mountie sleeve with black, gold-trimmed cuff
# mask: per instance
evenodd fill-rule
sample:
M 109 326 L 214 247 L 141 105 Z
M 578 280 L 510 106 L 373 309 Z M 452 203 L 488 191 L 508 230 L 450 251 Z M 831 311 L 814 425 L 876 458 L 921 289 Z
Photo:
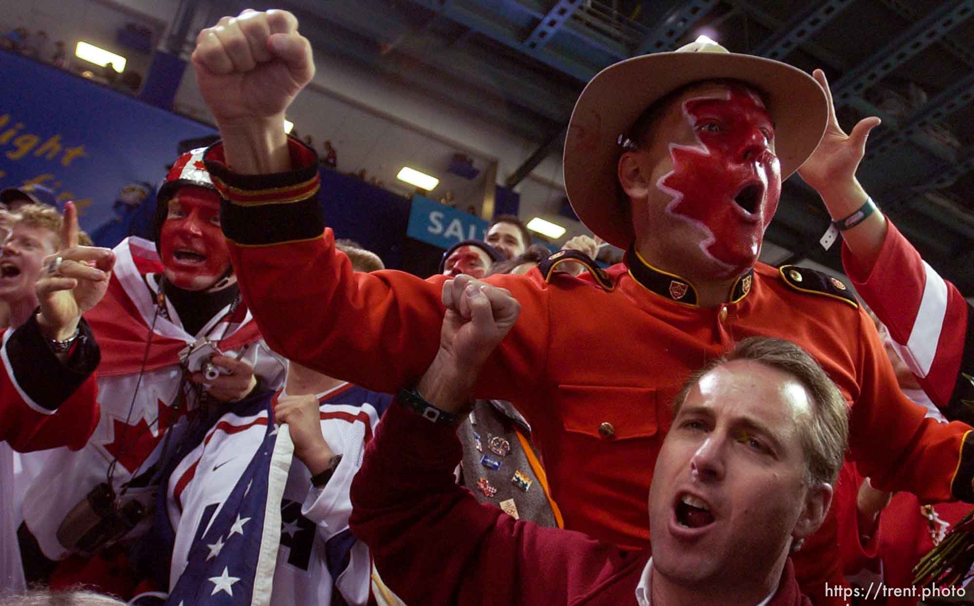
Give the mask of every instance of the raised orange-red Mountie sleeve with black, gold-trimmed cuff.
M 239 175 L 218 145 L 206 166 L 226 201 L 221 223 L 247 308 L 285 358 L 366 389 L 414 384 L 439 346 L 444 278 L 359 273 L 334 246 L 316 194 L 314 152 L 291 140 L 297 170 Z M 481 373 L 478 395 L 530 402 L 547 353 L 547 284 L 540 274 L 498 276 L 521 317 Z

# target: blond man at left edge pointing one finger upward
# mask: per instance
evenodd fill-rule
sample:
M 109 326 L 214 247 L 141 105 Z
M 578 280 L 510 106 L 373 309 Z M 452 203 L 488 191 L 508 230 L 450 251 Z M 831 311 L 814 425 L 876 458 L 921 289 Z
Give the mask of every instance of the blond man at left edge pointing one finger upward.
M 111 250 L 77 246 L 74 205 L 64 221 L 53 208 L 23 210 L 0 255 L 0 296 L 17 312 L 0 330 L 0 597 L 25 587 L 11 448 L 77 450 L 92 435 L 99 355 L 82 314 L 104 295 L 115 260 Z

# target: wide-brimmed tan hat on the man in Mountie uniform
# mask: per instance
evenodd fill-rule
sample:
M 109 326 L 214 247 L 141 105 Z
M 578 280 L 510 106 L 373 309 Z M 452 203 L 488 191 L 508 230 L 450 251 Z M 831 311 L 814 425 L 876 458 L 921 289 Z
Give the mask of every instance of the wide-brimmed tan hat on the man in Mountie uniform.
M 710 42 L 672 53 L 633 57 L 606 67 L 581 92 L 565 136 L 565 190 L 585 227 L 626 248 L 635 240 L 629 211 L 619 200 L 619 136 L 654 102 L 704 80 L 732 79 L 763 94 L 774 122 L 781 178 L 811 155 L 825 133 L 828 100 L 801 69 L 764 57 L 738 55 Z

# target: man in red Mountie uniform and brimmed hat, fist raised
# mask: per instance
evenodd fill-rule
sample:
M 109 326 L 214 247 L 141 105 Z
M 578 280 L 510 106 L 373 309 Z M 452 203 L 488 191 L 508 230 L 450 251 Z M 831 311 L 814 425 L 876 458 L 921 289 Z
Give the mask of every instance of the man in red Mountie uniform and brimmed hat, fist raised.
M 281 130 L 315 73 L 297 19 L 221 19 L 201 32 L 193 62 L 223 135 L 205 159 L 226 197 L 222 228 L 268 342 L 375 391 L 415 383 L 436 354 L 444 289 L 476 281 L 354 274 L 336 254 L 315 156 Z M 666 402 L 694 368 L 757 335 L 797 342 L 836 381 L 852 404 L 850 456 L 874 485 L 974 501 L 969 428 L 924 419 L 899 394 L 845 284 L 757 262 L 781 181 L 815 150 L 828 116 L 822 82 L 702 42 L 627 59 L 585 88 L 566 137 L 566 189 L 594 235 L 628 249 L 625 262 L 577 279 L 553 271 L 570 260 L 557 252 L 526 276 L 487 279 L 522 313 L 474 389 L 512 401 L 531 424 L 566 528 L 648 545 L 652 477 L 637 462 L 659 451 Z M 856 139 L 838 143 L 833 156 Z M 318 280 L 284 288 L 298 271 Z M 819 601 L 825 580 L 843 583 L 835 532 L 830 515 L 796 557 Z

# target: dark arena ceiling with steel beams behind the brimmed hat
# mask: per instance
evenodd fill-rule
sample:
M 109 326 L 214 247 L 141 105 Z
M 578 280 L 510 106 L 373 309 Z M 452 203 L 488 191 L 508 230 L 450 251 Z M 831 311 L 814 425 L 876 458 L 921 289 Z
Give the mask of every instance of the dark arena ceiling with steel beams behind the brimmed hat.
M 232 2 L 221 3 L 225 8 Z M 313 45 L 537 142 L 551 154 L 585 82 L 700 33 L 825 70 L 840 122 L 878 115 L 859 178 L 924 258 L 974 295 L 974 0 L 284 0 Z M 241 7 L 243 8 L 243 5 Z M 817 195 L 785 183 L 768 240 L 841 267 Z

